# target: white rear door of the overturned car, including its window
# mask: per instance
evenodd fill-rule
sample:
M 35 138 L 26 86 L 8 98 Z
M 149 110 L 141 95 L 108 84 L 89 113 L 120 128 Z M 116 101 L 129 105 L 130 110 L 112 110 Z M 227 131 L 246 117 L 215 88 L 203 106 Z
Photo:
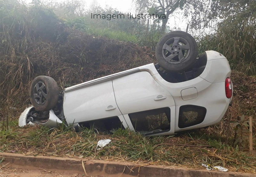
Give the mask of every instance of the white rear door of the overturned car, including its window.
M 146 71 L 113 80 L 116 103 L 130 129 L 144 135 L 174 133 L 172 95 Z

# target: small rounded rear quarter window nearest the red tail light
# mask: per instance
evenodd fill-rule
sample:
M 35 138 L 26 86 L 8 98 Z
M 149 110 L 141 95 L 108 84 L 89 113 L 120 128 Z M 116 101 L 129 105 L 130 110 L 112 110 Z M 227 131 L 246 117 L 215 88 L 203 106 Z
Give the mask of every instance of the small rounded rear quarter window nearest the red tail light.
M 178 126 L 180 129 L 200 124 L 204 121 L 206 108 L 196 105 L 180 107 Z

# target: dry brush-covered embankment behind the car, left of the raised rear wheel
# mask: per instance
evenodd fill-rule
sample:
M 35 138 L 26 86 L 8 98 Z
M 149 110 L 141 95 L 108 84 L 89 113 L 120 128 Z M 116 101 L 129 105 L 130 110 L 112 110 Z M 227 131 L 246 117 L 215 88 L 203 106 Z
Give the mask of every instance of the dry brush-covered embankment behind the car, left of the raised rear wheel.
M 21 49 L 23 40 L 2 44 L 0 55 L 1 107 L 20 110 L 29 103 L 33 78 L 53 77 L 60 90 L 91 79 L 156 63 L 154 53 L 129 42 L 86 35 L 65 28 L 61 39 L 34 38 Z M 1 109 L 2 116 L 5 110 Z

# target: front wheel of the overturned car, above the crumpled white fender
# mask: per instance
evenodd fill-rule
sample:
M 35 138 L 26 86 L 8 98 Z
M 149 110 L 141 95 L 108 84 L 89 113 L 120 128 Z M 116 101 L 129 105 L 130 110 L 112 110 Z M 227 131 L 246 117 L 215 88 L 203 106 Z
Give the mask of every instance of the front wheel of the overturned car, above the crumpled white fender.
M 37 111 L 49 111 L 58 102 L 59 87 L 52 77 L 37 76 L 30 86 L 30 101 Z

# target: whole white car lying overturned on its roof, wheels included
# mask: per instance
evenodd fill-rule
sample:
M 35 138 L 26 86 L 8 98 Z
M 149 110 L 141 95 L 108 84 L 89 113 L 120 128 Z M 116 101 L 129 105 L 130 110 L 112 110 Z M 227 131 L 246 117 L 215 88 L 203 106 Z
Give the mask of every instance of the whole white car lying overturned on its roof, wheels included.
M 47 76 L 36 77 L 19 126 L 64 122 L 112 131 L 129 128 L 146 136 L 169 135 L 219 122 L 232 100 L 230 66 L 225 56 L 205 51 L 197 57 L 188 33 L 166 34 L 157 44 L 159 63 L 148 64 L 74 85 L 59 93 Z

